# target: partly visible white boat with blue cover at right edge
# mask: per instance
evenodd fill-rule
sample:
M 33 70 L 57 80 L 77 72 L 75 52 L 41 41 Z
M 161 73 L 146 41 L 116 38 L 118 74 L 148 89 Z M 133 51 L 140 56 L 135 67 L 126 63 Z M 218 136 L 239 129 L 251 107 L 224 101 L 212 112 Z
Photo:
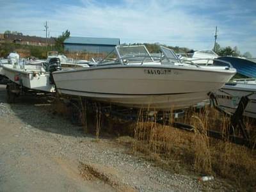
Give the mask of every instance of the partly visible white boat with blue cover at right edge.
M 245 58 L 230 56 L 220 57 L 220 60 L 232 63 L 237 74 L 246 77 L 233 79 L 216 93 L 220 107 L 234 113 L 241 98 L 247 97 L 248 104 L 245 106 L 243 115 L 256 118 L 256 63 Z

